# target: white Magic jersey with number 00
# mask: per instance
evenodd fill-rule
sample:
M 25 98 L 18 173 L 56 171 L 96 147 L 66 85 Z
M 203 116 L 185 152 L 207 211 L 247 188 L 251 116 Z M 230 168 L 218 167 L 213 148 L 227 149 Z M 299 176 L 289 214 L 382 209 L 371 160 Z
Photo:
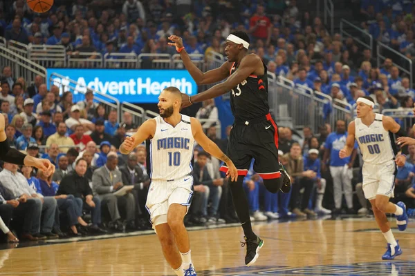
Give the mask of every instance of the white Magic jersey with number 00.
M 382 164 L 396 155 L 394 135 L 383 128 L 382 117 L 376 113 L 375 121 L 370 126 L 363 124 L 360 118 L 355 119 L 355 137 L 365 163 Z

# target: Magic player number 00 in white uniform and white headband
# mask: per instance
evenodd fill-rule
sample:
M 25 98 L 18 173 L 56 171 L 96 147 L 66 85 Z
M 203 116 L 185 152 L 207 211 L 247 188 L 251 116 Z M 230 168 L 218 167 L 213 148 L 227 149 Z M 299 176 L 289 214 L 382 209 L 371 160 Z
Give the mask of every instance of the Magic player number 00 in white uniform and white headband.
M 406 157 L 396 155 L 394 133 L 404 136 L 405 132 L 391 117 L 373 112 L 374 100 L 371 97 L 360 97 L 356 101 L 358 117 L 349 124 L 346 146 L 339 152 L 340 158 L 351 155 L 355 139 L 358 141 L 363 157 L 363 192 L 369 199 L 376 222 L 387 240 L 387 251 L 382 259 L 394 259 L 402 254 L 402 250 L 392 234 L 385 213 L 395 214 L 396 224 L 400 231 L 407 227 L 406 206 L 389 202 L 394 197 L 396 165 L 403 166 Z M 401 148 L 407 152 L 407 147 Z

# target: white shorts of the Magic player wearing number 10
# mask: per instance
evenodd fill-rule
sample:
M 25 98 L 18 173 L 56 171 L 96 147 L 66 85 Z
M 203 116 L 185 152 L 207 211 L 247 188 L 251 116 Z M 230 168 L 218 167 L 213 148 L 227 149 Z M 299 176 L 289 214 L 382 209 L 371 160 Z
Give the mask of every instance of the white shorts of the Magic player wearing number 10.
M 151 181 L 145 205 L 150 214 L 153 228 L 158 224 L 167 223 L 167 212 L 170 205 L 181 204 L 187 206 L 187 210 L 189 210 L 193 196 L 192 186 L 192 175 L 173 181 Z

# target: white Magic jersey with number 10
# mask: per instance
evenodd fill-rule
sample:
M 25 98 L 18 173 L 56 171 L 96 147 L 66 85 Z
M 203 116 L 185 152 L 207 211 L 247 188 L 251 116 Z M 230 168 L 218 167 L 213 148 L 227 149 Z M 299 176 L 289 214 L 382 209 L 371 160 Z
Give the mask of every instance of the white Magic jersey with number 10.
M 173 127 L 160 116 L 156 120 L 156 132 L 150 141 L 151 180 L 172 180 L 190 175 L 194 138 L 190 117 L 181 115 L 181 122 Z

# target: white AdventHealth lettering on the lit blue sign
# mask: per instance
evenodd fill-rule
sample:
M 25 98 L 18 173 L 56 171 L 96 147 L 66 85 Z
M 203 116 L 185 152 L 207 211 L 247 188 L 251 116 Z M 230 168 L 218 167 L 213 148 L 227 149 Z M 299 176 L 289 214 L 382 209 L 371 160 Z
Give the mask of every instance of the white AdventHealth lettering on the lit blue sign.
M 59 82 L 60 79 L 54 79 Z M 64 85 L 62 81 L 62 85 Z M 160 95 L 160 92 L 164 88 L 169 86 L 176 86 L 181 92 L 188 95 L 192 95 L 192 83 L 186 81 L 185 78 L 176 79 L 172 77 L 169 81 L 151 81 L 151 78 L 147 77 L 143 81 L 142 78 L 129 79 L 129 81 L 101 81 L 100 78 L 95 77 L 93 81 L 86 83 L 84 77 L 77 79 L 77 86 L 75 87 L 76 92 L 86 92 L 86 87 L 98 90 L 103 94 L 109 95 Z M 65 90 L 65 89 L 64 89 Z

